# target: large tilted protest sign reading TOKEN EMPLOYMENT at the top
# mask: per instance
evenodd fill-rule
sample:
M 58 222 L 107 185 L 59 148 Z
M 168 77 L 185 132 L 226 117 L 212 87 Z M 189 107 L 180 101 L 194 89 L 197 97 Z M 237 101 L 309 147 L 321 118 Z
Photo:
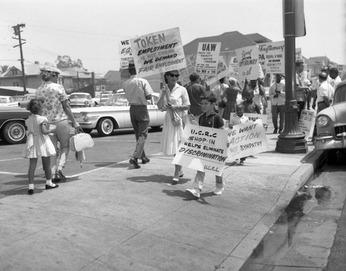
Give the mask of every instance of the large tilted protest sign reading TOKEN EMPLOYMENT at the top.
M 130 42 L 138 77 L 186 67 L 179 28 L 135 37 Z

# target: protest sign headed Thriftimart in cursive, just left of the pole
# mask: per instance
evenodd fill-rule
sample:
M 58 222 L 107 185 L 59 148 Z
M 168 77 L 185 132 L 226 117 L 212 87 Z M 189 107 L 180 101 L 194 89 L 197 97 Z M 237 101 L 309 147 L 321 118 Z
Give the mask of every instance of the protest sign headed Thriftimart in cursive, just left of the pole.
M 284 73 L 284 41 L 259 44 L 258 50 L 266 73 Z

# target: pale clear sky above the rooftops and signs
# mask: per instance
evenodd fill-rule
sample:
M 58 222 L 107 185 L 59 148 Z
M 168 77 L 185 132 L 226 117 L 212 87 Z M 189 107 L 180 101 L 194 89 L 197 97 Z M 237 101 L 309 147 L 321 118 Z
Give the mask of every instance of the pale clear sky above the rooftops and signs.
M 295 47 L 346 65 L 346 1 L 304 0 L 304 15 L 307 35 Z M 25 64 L 69 55 L 100 75 L 119 70 L 120 40 L 175 27 L 183 44 L 231 31 L 284 40 L 282 0 L 0 0 L 0 66 L 20 66 L 17 24 L 26 25 Z

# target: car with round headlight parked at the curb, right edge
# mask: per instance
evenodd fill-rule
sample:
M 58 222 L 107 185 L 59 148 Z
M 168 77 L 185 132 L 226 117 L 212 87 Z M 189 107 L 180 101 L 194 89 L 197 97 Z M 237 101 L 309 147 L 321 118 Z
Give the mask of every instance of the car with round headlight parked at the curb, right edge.
M 346 150 L 346 80 L 338 84 L 331 106 L 316 116 L 315 148 L 326 150 L 327 163 L 337 162 L 337 151 Z

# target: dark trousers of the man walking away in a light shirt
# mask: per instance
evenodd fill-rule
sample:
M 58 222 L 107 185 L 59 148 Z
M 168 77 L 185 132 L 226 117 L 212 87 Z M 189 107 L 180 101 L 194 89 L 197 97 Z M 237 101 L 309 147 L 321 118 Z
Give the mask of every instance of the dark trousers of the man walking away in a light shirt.
M 149 112 L 147 106 L 130 106 L 130 118 L 134 134 L 136 136 L 136 149 L 134 150 L 134 158 L 145 158 L 144 144 L 147 140 L 149 130 Z

